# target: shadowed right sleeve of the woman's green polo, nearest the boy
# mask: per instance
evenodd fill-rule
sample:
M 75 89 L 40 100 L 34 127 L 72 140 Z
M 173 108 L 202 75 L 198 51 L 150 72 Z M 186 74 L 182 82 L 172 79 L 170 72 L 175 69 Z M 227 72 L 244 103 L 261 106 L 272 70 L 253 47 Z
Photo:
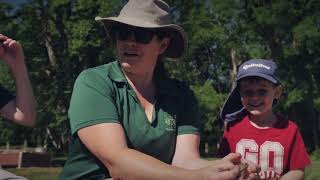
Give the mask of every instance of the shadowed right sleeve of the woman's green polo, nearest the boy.
M 178 135 L 200 134 L 201 122 L 198 102 L 193 92 L 187 86 L 183 86 L 184 93 L 181 97 L 181 118 L 178 120 Z

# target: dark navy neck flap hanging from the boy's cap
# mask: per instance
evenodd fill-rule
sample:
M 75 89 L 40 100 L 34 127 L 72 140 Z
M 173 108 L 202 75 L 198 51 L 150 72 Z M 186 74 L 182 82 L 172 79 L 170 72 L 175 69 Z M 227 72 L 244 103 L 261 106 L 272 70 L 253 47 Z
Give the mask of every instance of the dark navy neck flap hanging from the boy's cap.
M 236 86 L 223 104 L 220 112 L 220 118 L 225 122 L 231 122 L 242 119 L 247 114 L 248 112 L 241 102 L 239 88 Z

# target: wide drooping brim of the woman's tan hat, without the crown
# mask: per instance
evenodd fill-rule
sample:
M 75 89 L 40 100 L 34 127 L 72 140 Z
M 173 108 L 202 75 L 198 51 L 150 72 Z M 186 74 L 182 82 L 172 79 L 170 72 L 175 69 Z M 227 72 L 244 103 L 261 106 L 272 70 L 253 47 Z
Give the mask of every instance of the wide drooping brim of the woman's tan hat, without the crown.
M 178 25 L 175 24 L 166 24 L 158 25 L 149 23 L 143 20 L 136 18 L 121 18 L 121 17 L 107 17 L 101 18 L 96 17 L 96 21 L 102 21 L 106 30 L 108 31 L 110 27 L 115 23 L 123 23 L 131 26 L 142 27 L 142 28 L 166 28 L 170 34 L 170 44 L 165 51 L 165 56 L 169 58 L 180 58 L 184 55 L 187 49 L 187 35 L 185 31 Z

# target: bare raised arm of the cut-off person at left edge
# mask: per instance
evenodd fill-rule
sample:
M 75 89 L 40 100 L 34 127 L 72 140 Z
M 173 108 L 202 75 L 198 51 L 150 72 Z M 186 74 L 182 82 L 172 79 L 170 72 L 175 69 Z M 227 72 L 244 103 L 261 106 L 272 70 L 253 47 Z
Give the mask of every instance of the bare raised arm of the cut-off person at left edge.
M 16 85 L 16 98 L 1 109 L 4 117 L 25 126 L 34 125 L 36 119 L 35 99 L 22 46 L 15 40 L 0 34 L 0 58 L 8 65 Z

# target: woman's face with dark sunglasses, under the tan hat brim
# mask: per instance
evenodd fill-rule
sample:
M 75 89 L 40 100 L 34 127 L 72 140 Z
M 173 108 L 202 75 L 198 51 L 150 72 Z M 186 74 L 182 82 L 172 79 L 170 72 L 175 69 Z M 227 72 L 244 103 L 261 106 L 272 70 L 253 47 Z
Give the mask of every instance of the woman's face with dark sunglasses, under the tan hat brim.
M 117 56 L 126 72 L 153 72 L 158 56 L 162 54 L 169 39 L 159 39 L 153 29 L 127 26 L 114 35 L 117 43 Z

